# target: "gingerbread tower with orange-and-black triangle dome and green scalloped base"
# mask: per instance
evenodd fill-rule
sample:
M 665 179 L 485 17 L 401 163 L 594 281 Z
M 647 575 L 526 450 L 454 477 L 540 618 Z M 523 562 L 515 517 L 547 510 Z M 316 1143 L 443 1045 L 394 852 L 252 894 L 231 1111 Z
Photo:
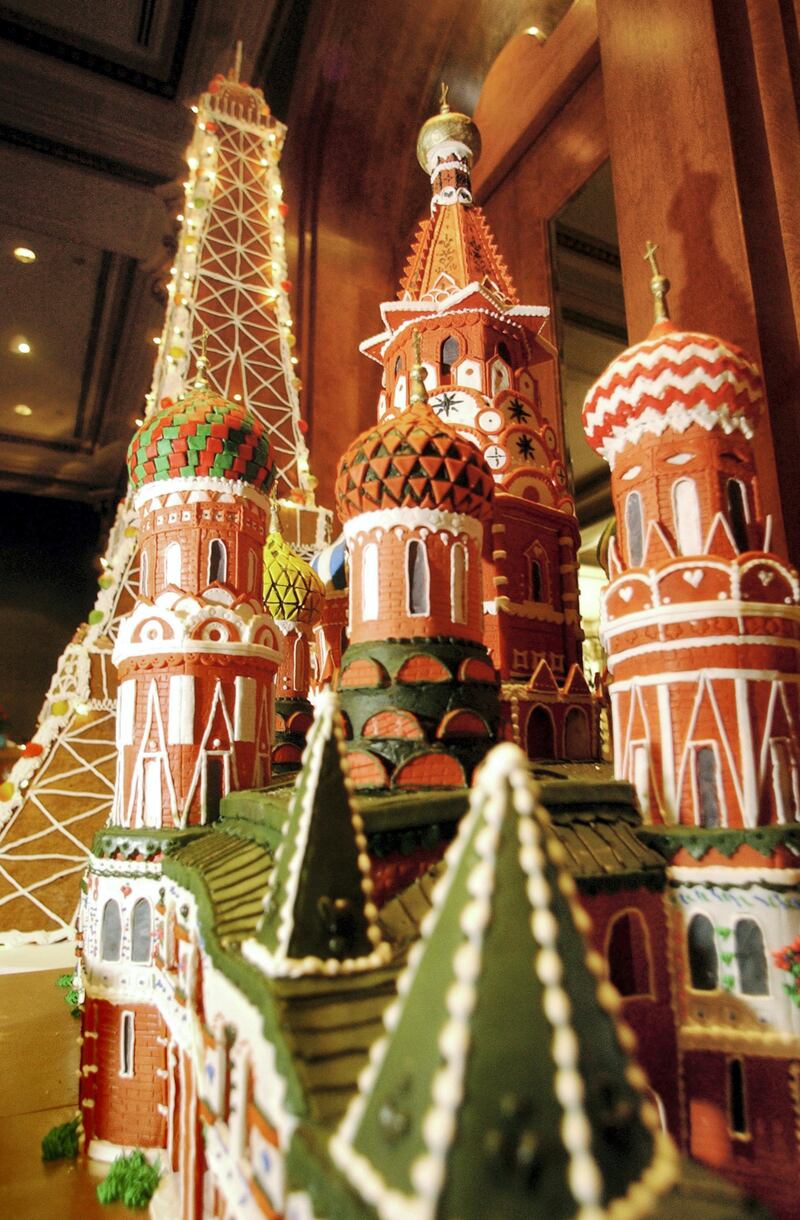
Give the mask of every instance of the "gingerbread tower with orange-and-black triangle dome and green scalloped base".
M 463 784 L 495 739 L 480 597 L 493 495 L 485 460 L 433 414 L 415 364 L 409 410 L 361 433 L 337 478 L 350 556 L 339 689 L 359 787 Z

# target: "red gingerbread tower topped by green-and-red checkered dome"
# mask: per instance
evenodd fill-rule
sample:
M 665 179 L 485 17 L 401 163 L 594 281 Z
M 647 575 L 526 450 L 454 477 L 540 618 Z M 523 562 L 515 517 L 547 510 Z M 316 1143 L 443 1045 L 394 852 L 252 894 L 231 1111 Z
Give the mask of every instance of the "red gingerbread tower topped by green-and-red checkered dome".
M 128 454 L 140 597 L 121 627 L 113 822 L 215 821 L 232 788 L 270 778 L 283 651 L 263 612 L 274 471 L 263 423 L 205 382 L 156 412 Z

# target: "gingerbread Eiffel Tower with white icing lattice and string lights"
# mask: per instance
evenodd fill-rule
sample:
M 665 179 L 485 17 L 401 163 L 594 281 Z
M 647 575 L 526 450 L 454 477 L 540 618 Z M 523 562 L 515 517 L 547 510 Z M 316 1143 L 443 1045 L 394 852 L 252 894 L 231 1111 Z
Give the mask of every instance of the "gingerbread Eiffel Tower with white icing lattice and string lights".
M 285 128 L 260 89 L 215 77 L 196 106 L 183 226 L 149 395 L 177 401 L 209 331 L 212 387 L 270 429 L 282 529 L 310 556 L 330 514 L 313 505 L 298 394 L 279 157 Z M 120 505 L 94 609 L 60 658 L 26 755 L 0 791 L 0 944 L 68 939 L 74 883 L 115 788 L 111 651 L 138 588 L 137 514 Z

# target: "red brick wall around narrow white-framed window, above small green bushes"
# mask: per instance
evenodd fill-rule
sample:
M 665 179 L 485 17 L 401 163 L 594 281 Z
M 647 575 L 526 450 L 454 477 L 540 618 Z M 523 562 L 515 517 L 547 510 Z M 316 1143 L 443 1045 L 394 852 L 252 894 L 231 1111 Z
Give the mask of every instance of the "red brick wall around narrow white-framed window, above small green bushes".
M 120 1075 L 122 1014 L 134 1014 L 133 1076 Z M 85 1037 L 85 1033 L 98 1037 Z M 163 1039 L 163 1041 L 160 1041 Z M 84 1108 L 87 1136 L 117 1144 L 163 1148 L 167 1141 L 166 1026 L 157 1009 L 148 1004 L 112 1004 L 87 999 L 84 1011 L 83 1064 L 98 1071 L 82 1077 L 82 1098 L 94 1100 Z M 160 1076 L 159 1071 L 165 1075 Z

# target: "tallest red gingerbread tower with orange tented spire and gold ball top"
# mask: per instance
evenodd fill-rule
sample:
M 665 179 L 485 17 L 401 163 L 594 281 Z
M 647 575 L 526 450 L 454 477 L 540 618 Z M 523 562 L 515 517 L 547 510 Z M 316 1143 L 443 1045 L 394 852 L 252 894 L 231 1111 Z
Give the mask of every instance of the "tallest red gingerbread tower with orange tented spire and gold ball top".
M 361 350 L 384 366 L 379 415 L 409 403 L 411 334 L 422 336 L 433 411 L 470 439 L 495 481 L 483 570 L 484 638 L 502 682 L 502 734 L 532 758 L 596 756 L 598 702 L 580 669 L 578 522 L 567 487 L 557 353 L 549 309 L 520 303 L 472 200 L 477 127 L 443 88 L 417 156 L 430 176 L 420 226 L 384 329 Z

